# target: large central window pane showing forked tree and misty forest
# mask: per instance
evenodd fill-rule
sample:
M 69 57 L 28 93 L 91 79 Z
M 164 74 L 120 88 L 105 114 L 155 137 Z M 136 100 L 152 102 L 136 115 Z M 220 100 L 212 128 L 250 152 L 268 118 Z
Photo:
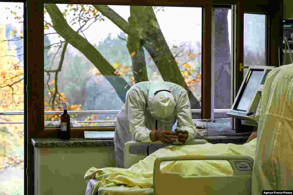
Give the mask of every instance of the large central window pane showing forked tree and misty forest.
M 65 104 L 76 126 L 114 126 L 142 81 L 181 85 L 201 118 L 201 74 L 202 8 L 44 4 L 46 127 Z

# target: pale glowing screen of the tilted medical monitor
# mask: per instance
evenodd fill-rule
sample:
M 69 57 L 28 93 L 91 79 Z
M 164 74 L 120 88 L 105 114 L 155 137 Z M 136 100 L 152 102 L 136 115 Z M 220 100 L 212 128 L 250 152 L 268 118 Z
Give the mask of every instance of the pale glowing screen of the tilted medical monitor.
M 242 97 L 238 103 L 237 110 L 247 111 L 252 98 L 259 87 L 260 80 L 263 76 L 263 70 L 251 70 L 248 76 L 248 81 L 246 83 L 245 89 L 242 93 Z

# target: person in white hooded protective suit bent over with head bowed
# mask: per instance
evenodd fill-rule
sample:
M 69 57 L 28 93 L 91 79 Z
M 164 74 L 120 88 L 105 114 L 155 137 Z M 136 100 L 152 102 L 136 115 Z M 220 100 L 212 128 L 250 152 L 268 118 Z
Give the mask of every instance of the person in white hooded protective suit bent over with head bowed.
M 171 131 L 178 121 L 177 129 Z M 117 116 L 114 135 L 116 167 L 124 168 L 124 146 L 127 141 L 185 143 L 194 139 L 187 91 L 170 82 L 139 82 L 126 94 L 125 104 Z

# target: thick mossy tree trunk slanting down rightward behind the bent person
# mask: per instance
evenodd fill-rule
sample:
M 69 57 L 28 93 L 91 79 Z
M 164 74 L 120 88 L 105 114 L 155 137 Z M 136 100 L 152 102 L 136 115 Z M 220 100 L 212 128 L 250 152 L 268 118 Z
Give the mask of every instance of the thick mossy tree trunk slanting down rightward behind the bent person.
M 164 81 L 173 82 L 188 91 L 192 109 L 200 109 L 195 96 L 190 93 L 175 58 L 170 51 L 151 6 L 130 6 L 131 21 L 137 23 L 143 46 L 156 63 Z

